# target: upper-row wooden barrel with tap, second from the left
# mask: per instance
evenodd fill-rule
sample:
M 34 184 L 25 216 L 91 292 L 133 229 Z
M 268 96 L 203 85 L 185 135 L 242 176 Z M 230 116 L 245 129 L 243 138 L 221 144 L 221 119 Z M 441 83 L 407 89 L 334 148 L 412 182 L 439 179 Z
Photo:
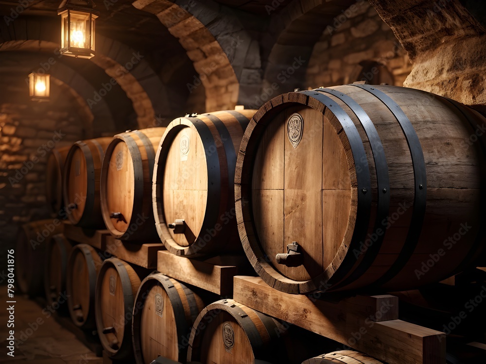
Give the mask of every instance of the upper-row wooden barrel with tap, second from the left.
M 104 151 L 112 138 L 78 141 L 69 149 L 63 172 L 63 199 L 76 226 L 105 229 L 100 204 Z

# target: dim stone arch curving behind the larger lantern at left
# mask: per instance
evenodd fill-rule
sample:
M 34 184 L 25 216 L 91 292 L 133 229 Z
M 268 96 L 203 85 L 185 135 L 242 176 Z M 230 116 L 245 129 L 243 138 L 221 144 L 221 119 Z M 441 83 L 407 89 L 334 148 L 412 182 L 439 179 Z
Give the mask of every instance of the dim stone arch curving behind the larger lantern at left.
M 4 50 L 29 49 L 59 54 L 58 28 L 57 19 L 18 18 L 10 25 L 1 23 L 0 43 L 9 42 Z M 35 41 L 38 45 L 35 45 Z M 170 108 L 163 102 L 166 99 L 166 87 L 141 57 L 135 57 L 135 65 L 131 62 L 137 54 L 135 50 L 102 35 L 97 36 L 96 50 L 98 55 L 91 61 L 112 77 L 132 101 L 139 127 L 151 125 L 156 113 L 161 116 L 167 115 Z M 128 65 L 131 65 L 130 71 L 125 68 Z

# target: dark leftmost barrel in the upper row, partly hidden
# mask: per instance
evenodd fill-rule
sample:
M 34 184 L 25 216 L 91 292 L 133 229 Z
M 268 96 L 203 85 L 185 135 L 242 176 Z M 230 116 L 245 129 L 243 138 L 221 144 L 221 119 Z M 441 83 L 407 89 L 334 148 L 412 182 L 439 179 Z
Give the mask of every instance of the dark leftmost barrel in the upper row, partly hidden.
M 46 199 L 52 212 L 59 214 L 64 207 L 62 199 L 62 173 L 70 147 L 52 149 L 47 160 Z

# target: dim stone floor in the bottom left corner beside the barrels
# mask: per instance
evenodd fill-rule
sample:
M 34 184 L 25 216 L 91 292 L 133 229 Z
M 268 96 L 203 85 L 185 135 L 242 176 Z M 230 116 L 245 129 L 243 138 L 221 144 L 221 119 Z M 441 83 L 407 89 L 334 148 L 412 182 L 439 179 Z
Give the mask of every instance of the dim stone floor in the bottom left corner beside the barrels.
M 7 288 L 0 286 L 0 363 L 20 364 L 102 364 L 76 336 L 63 328 L 52 314 L 35 301 L 15 297 L 15 337 L 21 341 L 15 357 L 7 355 L 8 330 Z

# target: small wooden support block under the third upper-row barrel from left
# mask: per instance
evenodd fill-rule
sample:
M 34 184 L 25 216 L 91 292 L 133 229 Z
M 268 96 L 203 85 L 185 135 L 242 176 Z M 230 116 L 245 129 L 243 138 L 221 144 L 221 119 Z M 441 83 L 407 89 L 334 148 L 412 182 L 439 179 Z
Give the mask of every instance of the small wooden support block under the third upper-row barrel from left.
M 165 249 L 162 243 L 135 244 L 106 237 L 106 252 L 128 263 L 133 263 L 148 269 L 157 267 L 157 251 Z

